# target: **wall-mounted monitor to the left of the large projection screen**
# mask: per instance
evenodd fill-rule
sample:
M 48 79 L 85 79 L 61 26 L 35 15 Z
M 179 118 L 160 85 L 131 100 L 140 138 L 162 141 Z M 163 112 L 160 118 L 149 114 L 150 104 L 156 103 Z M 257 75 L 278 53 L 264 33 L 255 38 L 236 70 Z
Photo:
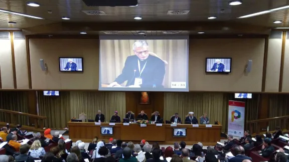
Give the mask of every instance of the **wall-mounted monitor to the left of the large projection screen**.
M 83 71 L 83 57 L 59 57 L 60 71 Z

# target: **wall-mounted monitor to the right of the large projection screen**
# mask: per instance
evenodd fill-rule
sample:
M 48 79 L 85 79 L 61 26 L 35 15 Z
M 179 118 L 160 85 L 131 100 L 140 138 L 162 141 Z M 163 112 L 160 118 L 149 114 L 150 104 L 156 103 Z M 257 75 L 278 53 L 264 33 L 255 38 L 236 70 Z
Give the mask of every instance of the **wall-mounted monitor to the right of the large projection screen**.
M 231 63 L 232 58 L 206 58 L 206 72 L 229 73 L 231 72 Z

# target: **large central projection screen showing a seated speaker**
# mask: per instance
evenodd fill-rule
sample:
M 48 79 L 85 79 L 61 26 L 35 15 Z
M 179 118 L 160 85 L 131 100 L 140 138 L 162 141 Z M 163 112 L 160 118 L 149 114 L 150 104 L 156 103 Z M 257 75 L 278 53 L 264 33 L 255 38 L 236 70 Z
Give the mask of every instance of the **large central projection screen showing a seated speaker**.
M 189 36 L 99 39 L 99 90 L 189 91 Z

